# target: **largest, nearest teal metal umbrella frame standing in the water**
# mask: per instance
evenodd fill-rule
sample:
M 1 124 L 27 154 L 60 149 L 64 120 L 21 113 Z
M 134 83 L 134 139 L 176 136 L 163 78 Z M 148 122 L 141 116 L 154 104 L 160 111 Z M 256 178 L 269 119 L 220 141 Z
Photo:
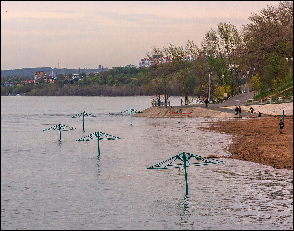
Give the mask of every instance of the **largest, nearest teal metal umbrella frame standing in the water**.
M 191 161 L 189 161 L 191 158 L 196 158 L 195 163 L 192 163 Z M 175 160 L 180 160 L 179 164 L 174 163 Z M 170 163 L 166 164 L 167 162 L 171 161 Z M 183 163 L 182 163 L 183 162 Z M 187 165 L 187 162 L 189 165 Z M 191 162 L 191 163 L 190 163 Z M 208 164 L 217 164 L 223 161 L 220 160 L 214 160 L 211 158 L 206 158 L 203 156 L 198 156 L 198 155 L 193 155 L 190 153 L 181 153 L 178 154 L 176 156 L 173 156 L 172 158 L 169 158 L 168 160 L 164 160 L 163 162 L 160 162 L 156 165 L 153 165 L 150 168 L 154 168 L 154 169 L 167 169 L 167 168 L 179 168 L 184 166 L 185 169 L 185 181 L 186 181 L 186 194 L 188 194 L 188 181 L 187 181 L 187 167 L 192 167 L 192 166 L 199 166 L 199 165 L 208 165 Z

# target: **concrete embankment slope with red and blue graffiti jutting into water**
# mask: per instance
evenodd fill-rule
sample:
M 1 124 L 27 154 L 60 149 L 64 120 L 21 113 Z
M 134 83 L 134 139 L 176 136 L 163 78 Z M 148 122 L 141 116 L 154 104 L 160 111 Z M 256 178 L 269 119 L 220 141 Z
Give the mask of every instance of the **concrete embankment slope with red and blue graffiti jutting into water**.
M 143 117 L 236 117 L 233 113 L 226 113 L 221 111 L 215 111 L 211 109 L 201 107 L 183 107 L 181 111 L 189 114 L 173 114 L 170 112 L 177 112 L 179 108 L 161 108 L 150 107 L 142 111 L 142 113 L 136 113 L 133 116 Z

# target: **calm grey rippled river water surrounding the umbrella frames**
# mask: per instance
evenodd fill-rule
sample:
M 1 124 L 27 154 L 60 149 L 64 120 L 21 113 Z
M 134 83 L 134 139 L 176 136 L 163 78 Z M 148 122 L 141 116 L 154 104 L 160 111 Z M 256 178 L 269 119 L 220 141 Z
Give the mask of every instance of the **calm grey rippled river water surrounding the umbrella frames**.
M 171 105 L 179 105 L 179 97 Z M 150 97 L 1 97 L 1 230 L 292 230 L 293 171 L 221 158 L 147 169 L 182 152 L 226 156 L 229 118 L 145 118 Z M 71 118 L 85 111 L 97 116 Z M 43 131 L 57 124 L 76 130 Z M 202 130 L 201 130 L 202 128 Z M 203 130 L 204 128 L 204 130 Z M 94 132 L 117 140 L 76 142 Z

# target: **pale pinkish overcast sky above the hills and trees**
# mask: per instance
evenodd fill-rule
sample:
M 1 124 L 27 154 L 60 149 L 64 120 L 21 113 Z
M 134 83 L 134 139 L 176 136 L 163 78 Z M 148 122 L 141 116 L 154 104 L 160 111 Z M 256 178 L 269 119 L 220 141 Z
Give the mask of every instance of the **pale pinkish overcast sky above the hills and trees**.
M 1 1 L 1 69 L 139 65 L 152 46 L 200 47 L 218 22 L 240 27 L 279 1 Z

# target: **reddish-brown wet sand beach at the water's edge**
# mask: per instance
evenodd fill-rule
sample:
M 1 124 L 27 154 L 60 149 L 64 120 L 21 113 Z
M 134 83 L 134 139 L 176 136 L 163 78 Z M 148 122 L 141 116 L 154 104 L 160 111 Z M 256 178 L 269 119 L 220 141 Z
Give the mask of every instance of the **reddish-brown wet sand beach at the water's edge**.
M 212 122 L 206 129 L 235 135 L 228 158 L 293 170 L 293 117 L 285 117 L 282 134 L 280 119 L 268 116 Z

